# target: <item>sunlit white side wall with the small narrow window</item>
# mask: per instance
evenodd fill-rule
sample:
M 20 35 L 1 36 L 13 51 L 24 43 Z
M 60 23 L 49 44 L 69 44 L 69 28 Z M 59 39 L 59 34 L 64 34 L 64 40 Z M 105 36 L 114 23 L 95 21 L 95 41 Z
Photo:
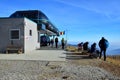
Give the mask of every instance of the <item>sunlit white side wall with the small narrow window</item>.
M 30 30 L 31 35 L 30 35 Z M 32 50 L 40 48 L 40 43 L 38 42 L 38 31 L 37 24 L 27 18 L 24 21 L 24 49 L 25 53 L 29 53 Z

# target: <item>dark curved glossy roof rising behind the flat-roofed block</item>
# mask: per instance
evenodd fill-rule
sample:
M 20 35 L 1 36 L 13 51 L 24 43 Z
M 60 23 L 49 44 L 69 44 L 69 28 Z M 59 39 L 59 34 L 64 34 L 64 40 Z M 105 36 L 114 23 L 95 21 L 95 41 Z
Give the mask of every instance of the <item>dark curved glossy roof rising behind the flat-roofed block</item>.
M 21 18 L 27 17 L 30 20 L 34 21 L 38 25 L 38 29 L 42 29 L 42 24 L 46 26 L 46 29 L 54 32 L 56 35 L 59 35 L 59 30 L 53 23 L 48 19 L 48 17 L 39 10 L 24 10 L 16 11 L 9 16 L 10 18 Z

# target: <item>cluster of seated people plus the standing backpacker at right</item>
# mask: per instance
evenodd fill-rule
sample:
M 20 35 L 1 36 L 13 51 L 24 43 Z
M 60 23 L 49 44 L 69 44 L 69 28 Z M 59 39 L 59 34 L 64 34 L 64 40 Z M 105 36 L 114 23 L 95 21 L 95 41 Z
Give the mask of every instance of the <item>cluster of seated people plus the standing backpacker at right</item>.
M 93 43 L 91 45 L 91 47 L 88 47 L 89 42 L 81 42 L 78 44 L 78 51 L 79 50 L 86 50 L 88 52 L 90 52 L 90 56 L 92 56 L 93 53 L 99 53 L 99 58 L 101 59 L 102 53 L 104 54 L 104 61 L 106 61 L 106 50 L 108 48 L 109 42 L 107 39 L 105 39 L 104 37 L 101 38 L 101 40 L 99 41 L 98 45 L 100 48 L 99 50 L 96 50 L 96 43 Z

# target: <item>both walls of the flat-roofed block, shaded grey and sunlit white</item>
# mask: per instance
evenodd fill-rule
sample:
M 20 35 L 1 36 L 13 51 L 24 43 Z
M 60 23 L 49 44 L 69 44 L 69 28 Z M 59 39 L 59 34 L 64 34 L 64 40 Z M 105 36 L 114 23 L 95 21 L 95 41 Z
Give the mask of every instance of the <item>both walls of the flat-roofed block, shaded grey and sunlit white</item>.
M 13 45 L 21 46 L 25 53 L 40 47 L 36 23 L 27 18 L 0 18 L 0 52 L 5 52 L 6 47 L 11 45 L 11 29 L 20 30 L 20 39 L 12 41 Z M 32 36 L 29 30 L 32 30 Z

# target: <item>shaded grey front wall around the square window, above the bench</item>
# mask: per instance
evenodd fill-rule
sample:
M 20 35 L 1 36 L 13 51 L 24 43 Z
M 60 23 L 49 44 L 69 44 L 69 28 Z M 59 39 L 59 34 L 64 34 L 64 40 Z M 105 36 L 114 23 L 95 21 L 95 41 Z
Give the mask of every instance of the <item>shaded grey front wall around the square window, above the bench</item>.
M 0 52 L 5 52 L 11 45 L 10 30 L 19 29 L 20 39 L 13 40 L 13 45 L 24 47 L 24 18 L 0 18 Z

